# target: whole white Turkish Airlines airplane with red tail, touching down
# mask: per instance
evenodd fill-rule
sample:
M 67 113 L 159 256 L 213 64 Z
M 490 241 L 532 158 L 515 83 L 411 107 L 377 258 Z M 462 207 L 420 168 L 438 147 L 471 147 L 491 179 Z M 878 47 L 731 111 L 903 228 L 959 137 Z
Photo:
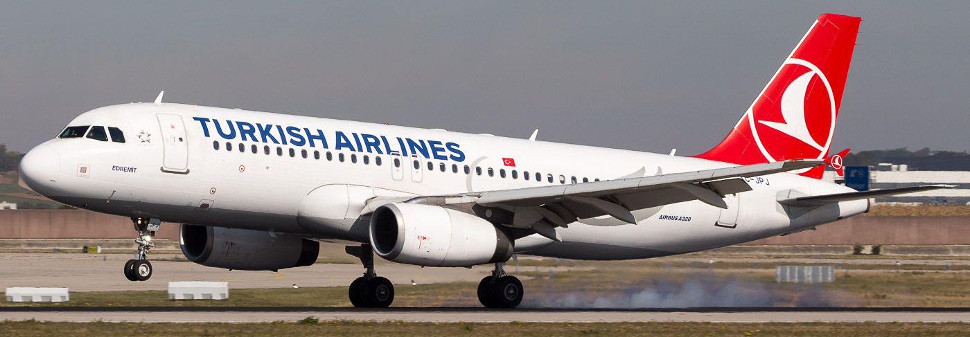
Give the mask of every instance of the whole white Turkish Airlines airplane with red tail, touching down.
M 821 180 L 860 18 L 813 22 L 755 102 L 710 151 L 691 157 L 472 135 L 440 129 L 163 103 L 81 113 L 20 162 L 38 193 L 129 217 L 151 277 L 151 236 L 180 224 L 196 263 L 240 270 L 312 264 L 321 240 L 347 240 L 365 272 L 354 306 L 387 307 L 394 286 L 373 255 L 421 266 L 495 264 L 478 285 L 489 308 L 525 291 L 503 264 L 517 254 L 634 260 L 784 235 L 868 211 Z

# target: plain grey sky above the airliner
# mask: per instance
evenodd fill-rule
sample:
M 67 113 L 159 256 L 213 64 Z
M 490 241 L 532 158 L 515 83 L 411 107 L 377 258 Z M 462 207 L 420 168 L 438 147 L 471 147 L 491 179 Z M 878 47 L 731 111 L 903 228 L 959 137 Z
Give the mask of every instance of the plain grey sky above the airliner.
M 282 3 L 282 4 L 281 4 Z M 242 107 L 678 154 L 813 20 L 862 16 L 833 151 L 970 150 L 970 2 L 55 2 L 0 11 L 0 143 L 94 107 Z

